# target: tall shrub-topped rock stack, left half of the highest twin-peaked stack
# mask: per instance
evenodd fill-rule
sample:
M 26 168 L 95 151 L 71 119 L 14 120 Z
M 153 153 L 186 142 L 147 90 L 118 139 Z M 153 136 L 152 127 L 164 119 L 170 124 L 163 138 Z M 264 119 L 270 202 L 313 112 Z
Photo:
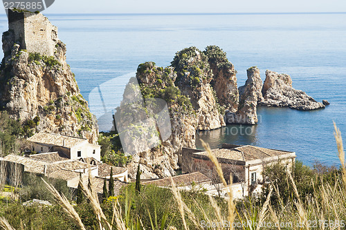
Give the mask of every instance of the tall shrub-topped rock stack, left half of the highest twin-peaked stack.
M 182 95 L 190 98 L 197 114 L 197 129 L 212 130 L 225 126 L 223 111 L 219 111 L 215 92 L 210 86 L 214 75 L 208 57 L 195 47 L 185 48 L 176 53 L 172 67 L 178 75 L 174 84 Z

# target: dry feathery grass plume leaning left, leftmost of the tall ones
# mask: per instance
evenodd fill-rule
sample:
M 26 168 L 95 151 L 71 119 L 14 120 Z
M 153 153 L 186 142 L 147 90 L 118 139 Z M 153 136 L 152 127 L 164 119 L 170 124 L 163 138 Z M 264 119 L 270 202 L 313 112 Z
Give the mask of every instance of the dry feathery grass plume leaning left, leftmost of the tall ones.
M 50 191 L 57 202 L 60 204 L 60 206 L 64 209 L 64 211 L 75 220 L 75 222 L 78 224 L 80 229 L 85 229 L 84 224 L 82 223 L 82 220 L 80 219 L 80 215 L 73 209 L 73 206 L 70 204 L 69 200 L 65 197 L 64 194 L 60 195 L 60 193 L 51 185 L 48 184 L 43 178 L 44 184 L 46 184 L 46 187 L 48 191 Z

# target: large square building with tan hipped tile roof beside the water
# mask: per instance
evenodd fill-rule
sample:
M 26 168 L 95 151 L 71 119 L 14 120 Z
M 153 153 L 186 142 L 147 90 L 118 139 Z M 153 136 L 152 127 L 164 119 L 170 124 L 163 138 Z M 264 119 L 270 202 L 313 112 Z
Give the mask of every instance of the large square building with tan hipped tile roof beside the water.
M 236 198 L 262 192 L 262 172 L 265 166 L 281 162 L 287 169 L 291 169 L 296 157 L 294 152 L 233 144 L 223 144 L 221 148 L 212 149 L 212 154 L 217 157 L 224 178 L 228 182 L 232 179 Z M 217 180 L 215 166 L 206 151 L 183 148 L 181 159 L 183 172 L 200 171 L 212 180 Z

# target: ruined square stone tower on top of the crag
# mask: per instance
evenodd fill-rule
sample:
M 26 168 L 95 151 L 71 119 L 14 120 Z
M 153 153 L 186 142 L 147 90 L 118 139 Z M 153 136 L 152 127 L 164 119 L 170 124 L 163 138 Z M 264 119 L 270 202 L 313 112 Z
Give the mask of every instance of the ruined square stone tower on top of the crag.
M 8 10 L 8 29 L 22 50 L 53 56 L 57 38 L 57 27 L 44 15 L 26 10 Z

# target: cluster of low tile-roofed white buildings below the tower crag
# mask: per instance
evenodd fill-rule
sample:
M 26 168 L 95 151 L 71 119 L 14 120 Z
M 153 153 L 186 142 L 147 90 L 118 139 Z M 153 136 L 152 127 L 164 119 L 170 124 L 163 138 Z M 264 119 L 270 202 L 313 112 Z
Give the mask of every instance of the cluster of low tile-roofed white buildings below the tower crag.
M 21 173 L 33 173 L 66 181 L 67 186 L 77 189 L 80 182 L 87 182 L 89 172 L 97 193 L 102 193 L 104 180 L 113 179 L 115 194 L 129 182 L 128 170 L 100 161 L 100 145 L 89 144 L 84 138 L 53 133 L 37 133 L 28 138 L 33 144 L 31 155 L 7 155 L 0 159 L 2 165 L 21 166 Z M 13 167 L 12 167 L 13 168 Z M 11 169 L 12 169 L 11 168 Z M 113 171 L 113 178 L 110 173 Z M 0 175 L 2 171 L 0 170 Z M 10 173 L 7 173 L 10 175 Z M 1 177 L 0 177 L 1 178 Z M 8 179 L 10 180 L 10 179 Z

